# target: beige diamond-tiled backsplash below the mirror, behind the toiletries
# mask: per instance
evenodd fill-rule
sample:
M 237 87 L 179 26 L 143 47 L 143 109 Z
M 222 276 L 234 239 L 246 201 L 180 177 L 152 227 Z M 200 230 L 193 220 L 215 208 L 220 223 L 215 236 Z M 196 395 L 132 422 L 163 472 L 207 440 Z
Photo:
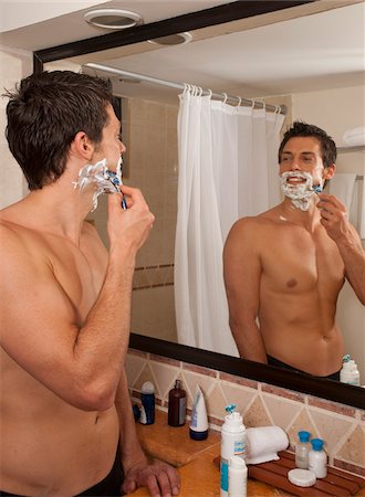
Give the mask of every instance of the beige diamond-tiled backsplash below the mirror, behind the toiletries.
M 325 441 L 331 466 L 365 476 L 363 410 L 133 349 L 126 370 L 133 398 L 138 399 L 145 381 L 155 384 L 157 409 L 167 412 L 168 392 L 179 378 L 189 409 L 196 385 L 204 391 L 211 429 L 220 429 L 225 408 L 233 402 L 247 427 L 282 427 L 290 450 L 294 450 L 298 432 L 307 430 Z

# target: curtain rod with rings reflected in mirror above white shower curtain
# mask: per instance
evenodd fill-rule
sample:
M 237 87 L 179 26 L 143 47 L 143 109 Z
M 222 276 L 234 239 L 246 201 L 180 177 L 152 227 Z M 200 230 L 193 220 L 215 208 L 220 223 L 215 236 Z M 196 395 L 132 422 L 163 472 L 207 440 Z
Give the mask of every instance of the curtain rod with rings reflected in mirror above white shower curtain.
M 144 74 L 138 73 L 131 73 L 129 71 L 118 70 L 116 67 L 111 67 L 108 65 L 102 65 L 102 64 L 94 64 L 93 62 L 90 62 L 87 64 L 84 64 L 84 67 L 93 68 L 95 71 L 103 71 L 105 73 L 109 74 L 117 74 L 118 76 L 127 76 L 133 77 L 136 80 L 145 81 L 147 83 L 160 85 L 160 86 L 168 86 L 169 88 L 176 88 L 184 91 L 185 85 L 181 83 L 174 83 L 171 81 L 166 80 L 158 80 L 157 77 L 146 76 Z M 264 104 L 263 102 L 258 102 L 250 98 L 241 98 L 239 96 L 233 95 L 227 95 L 226 93 L 213 93 L 210 89 L 204 89 L 202 95 L 209 95 L 213 98 L 225 99 L 225 101 L 236 101 L 239 105 L 246 105 L 246 106 L 258 106 L 259 108 L 265 108 L 270 112 L 280 112 L 280 114 L 285 115 L 286 114 L 286 106 L 285 105 L 271 105 L 271 104 Z

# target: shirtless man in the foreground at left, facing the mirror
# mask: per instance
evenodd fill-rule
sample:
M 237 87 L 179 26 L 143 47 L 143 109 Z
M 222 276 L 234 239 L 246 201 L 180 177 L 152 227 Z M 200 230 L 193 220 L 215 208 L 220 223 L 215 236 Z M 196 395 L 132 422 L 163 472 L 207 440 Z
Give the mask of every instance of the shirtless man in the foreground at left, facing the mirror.
M 177 495 L 176 470 L 148 464 L 124 369 L 137 251 L 154 222 L 139 192 L 108 195 L 109 253 L 85 222 L 96 186 L 74 188 L 125 150 L 111 83 L 32 75 L 9 94 L 9 147 L 30 193 L 1 211 L 1 495 Z M 124 470 L 124 483 L 122 466 Z

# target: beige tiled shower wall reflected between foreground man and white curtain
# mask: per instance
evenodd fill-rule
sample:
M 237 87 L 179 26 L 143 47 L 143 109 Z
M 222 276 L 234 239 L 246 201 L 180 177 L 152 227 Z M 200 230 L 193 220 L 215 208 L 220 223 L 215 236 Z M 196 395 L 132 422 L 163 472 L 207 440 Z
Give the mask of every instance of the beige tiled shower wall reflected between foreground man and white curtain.
M 133 285 L 132 331 L 177 341 L 174 250 L 177 216 L 177 105 L 124 99 L 122 136 L 127 147 L 124 182 L 142 190 L 155 214 L 154 229 L 138 253 Z M 106 199 L 88 215 L 105 245 Z

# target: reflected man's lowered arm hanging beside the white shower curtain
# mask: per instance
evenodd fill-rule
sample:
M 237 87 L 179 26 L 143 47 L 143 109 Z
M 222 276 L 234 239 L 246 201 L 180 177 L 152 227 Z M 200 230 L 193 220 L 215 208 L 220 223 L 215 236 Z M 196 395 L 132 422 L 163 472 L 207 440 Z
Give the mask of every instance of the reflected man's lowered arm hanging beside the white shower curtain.
M 257 316 L 262 273 L 255 222 L 246 218 L 229 232 L 223 251 L 223 274 L 229 307 L 229 325 L 240 356 L 267 363 Z

